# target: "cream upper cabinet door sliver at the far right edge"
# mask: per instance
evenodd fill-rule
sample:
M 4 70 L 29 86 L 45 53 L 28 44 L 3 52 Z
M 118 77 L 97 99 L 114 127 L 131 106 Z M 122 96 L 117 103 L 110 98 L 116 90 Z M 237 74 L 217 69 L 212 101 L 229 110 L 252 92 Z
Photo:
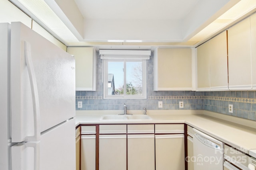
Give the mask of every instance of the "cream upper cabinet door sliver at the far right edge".
M 256 14 L 250 16 L 252 48 L 252 88 L 256 89 Z

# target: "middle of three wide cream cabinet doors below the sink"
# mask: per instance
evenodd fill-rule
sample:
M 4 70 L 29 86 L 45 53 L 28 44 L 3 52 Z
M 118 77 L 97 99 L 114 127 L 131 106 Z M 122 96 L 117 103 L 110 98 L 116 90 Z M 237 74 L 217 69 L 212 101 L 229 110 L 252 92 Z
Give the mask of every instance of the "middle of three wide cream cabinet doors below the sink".
M 154 145 L 154 135 L 127 135 L 128 170 L 155 170 Z

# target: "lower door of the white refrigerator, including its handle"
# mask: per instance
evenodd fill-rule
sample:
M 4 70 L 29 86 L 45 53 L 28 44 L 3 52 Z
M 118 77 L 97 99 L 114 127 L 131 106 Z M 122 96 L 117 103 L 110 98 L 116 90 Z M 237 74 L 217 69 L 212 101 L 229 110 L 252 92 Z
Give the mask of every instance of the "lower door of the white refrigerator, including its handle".
M 72 118 L 42 133 L 40 141 L 12 146 L 12 170 L 75 170 L 74 127 Z

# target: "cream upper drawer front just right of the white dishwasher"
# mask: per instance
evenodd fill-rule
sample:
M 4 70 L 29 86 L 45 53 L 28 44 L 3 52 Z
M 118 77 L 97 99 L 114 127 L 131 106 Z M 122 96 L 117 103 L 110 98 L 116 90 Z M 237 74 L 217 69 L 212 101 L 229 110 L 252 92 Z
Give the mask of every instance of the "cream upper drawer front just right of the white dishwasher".
M 224 158 L 241 169 L 247 169 L 249 156 L 246 154 L 224 145 Z

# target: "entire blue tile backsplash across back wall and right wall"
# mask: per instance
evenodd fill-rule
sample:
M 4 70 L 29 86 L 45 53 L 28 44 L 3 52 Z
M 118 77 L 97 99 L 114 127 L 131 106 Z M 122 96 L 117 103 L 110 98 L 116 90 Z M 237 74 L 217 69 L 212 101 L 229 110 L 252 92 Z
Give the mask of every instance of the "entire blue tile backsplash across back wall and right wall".
M 153 91 L 153 53 L 147 61 L 147 99 L 103 99 L 102 59 L 97 57 L 97 91 L 76 91 L 76 110 L 123 110 L 124 103 L 128 110 L 208 110 L 226 115 L 256 120 L 255 91 Z M 77 102 L 82 101 L 82 108 Z M 158 108 L 158 101 L 163 108 Z M 184 108 L 179 108 L 179 102 Z M 233 113 L 228 112 L 228 105 L 233 104 Z

